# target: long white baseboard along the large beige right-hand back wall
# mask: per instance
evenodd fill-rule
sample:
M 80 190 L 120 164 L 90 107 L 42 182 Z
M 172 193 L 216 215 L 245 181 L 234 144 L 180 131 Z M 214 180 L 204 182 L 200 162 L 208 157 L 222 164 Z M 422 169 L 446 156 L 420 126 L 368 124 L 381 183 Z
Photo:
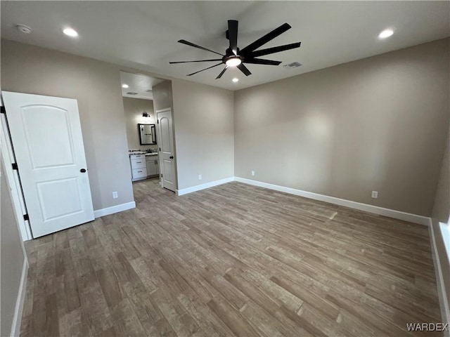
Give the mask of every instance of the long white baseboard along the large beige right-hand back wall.
M 428 226 L 430 224 L 430 218 L 428 218 L 426 216 L 418 216 L 416 214 L 395 211 L 394 209 L 384 209 L 383 207 L 362 204 L 361 202 L 350 201 L 350 200 L 340 199 L 340 198 L 335 198 L 335 197 L 329 197 L 328 195 L 317 194 L 317 193 L 313 193 L 313 192 L 296 190 L 295 188 L 291 188 L 291 187 L 284 187 L 284 186 L 279 186 L 279 185 L 274 185 L 274 184 L 269 184 L 269 183 L 262 183 L 261 181 L 257 181 L 257 180 L 251 180 L 251 179 L 239 178 L 239 177 L 234 177 L 234 180 L 236 180 L 240 183 L 269 188 L 270 190 L 276 190 L 279 192 L 285 192 L 285 193 L 289 193 L 289 194 L 299 195 L 300 197 L 305 197 L 305 198 L 319 200 L 319 201 L 325 201 L 325 202 L 329 202 L 330 204 L 336 204 L 336 205 L 340 205 L 340 206 L 349 207 L 350 209 L 359 209 L 359 211 L 366 211 L 368 213 L 374 213 L 374 214 L 378 214 L 380 216 L 388 216 L 390 218 L 405 220 L 405 221 L 409 221 L 411 223 L 418 223 L 419 225 L 427 225 Z

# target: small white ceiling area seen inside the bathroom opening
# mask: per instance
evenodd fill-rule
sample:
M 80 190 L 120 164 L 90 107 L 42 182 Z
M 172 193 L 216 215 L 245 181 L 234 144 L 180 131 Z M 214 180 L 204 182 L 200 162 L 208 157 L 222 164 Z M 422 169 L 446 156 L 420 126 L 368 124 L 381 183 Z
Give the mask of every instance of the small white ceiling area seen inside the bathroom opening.
M 157 79 L 142 74 L 131 74 L 120 72 L 120 83 L 127 84 L 128 88 L 122 87 L 122 96 L 129 98 L 142 98 L 143 100 L 153 100 L 152 87 L 161 83 L 164 79 Z M 132 94 L 136 93 L 136 95 Z

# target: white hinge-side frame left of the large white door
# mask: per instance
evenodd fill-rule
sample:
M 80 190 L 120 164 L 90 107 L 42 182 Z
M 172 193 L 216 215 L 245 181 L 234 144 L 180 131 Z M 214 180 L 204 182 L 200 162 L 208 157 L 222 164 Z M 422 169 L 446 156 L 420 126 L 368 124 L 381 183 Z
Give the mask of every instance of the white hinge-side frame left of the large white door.
M 2 110 L 4 109 L 1 103 Z M 23 197 L 22 186 L 20 185 L 20 176 L 18 171 L 13 170 L 12 164 L 15 163 L 15 156 L 13 150 L 13 143 L 11 143 L 11 136 L 8 129 L 8 119 L 5 113 L 1 114 L 1 160 L 4 164 L 4 174 L 8 182 L 8 187 L 11 190 L 11 201 L 13 204 L 15 220 L 17 220 L 20 237 L 22 241 L 33 239 L 31 234 L 30 222 L 25 220 L 23 216 L 27 214 L 25 206 L 25 198 Z

